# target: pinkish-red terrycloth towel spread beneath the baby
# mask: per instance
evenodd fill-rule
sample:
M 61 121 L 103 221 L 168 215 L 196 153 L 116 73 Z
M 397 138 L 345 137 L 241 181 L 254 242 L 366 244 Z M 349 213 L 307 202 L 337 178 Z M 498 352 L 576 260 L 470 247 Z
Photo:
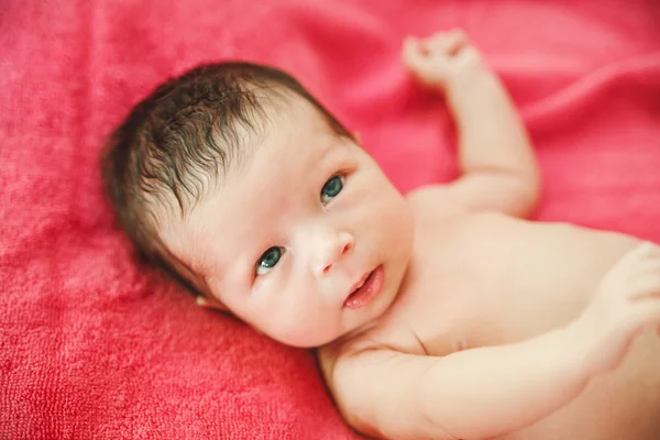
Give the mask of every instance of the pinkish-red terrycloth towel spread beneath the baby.
M 455 167 L 402 38 L 464 28 L 529 124 L 538 217 L 660 242 L 659 23 L 654 0 L 4 0 L 0 438 L 356 437 L 311 353 L 198 309 L 112 227 L 99 148 L 168 75 L 226 58 L 289 69 L 405 191 Z

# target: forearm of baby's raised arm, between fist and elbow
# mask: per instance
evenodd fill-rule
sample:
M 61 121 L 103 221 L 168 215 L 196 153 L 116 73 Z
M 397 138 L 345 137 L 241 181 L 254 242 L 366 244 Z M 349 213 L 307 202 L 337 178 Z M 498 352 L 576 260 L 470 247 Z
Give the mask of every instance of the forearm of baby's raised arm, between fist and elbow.
M 459 132 L 464 173 L 506 172 L 538 185 L 532 147 L 504 85 L 487 67 L 465 72 L 446 96 Z

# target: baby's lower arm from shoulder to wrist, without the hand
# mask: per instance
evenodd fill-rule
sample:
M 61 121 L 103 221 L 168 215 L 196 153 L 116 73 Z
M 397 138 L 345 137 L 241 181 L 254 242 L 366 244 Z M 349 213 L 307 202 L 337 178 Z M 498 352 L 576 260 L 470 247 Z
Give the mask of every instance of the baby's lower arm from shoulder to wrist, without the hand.
M 485 439 L 531 425 L 588 375 L 568 329 L 444 358 L 373 350 L 340 358 L 331 388 L 358 429 L 388 439 Z

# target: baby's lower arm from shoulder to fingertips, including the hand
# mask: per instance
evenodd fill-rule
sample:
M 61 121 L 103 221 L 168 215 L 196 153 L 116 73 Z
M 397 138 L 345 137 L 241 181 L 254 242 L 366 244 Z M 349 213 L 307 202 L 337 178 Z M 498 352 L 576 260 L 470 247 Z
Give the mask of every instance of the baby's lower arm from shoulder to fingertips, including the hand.
M 645 327 L 660 324 L 660 248 L 641 245 L 613 267 L 582 316 L 501 346 L 421 356 L 348 353 L 327 372 L 344 417 L 396 439 L 483 439 L 522 429 L 615 369 Z

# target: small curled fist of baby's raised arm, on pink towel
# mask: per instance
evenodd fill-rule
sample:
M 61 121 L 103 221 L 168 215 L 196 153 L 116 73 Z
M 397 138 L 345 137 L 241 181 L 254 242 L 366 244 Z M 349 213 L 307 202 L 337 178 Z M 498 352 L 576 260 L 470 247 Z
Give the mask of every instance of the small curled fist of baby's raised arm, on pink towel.
M 457 81 L 485 70 L 480 53 L 462 31 L 441 32 L 418 40 L 407 37 L 404 65 L 419 81 L 447 90 Z

